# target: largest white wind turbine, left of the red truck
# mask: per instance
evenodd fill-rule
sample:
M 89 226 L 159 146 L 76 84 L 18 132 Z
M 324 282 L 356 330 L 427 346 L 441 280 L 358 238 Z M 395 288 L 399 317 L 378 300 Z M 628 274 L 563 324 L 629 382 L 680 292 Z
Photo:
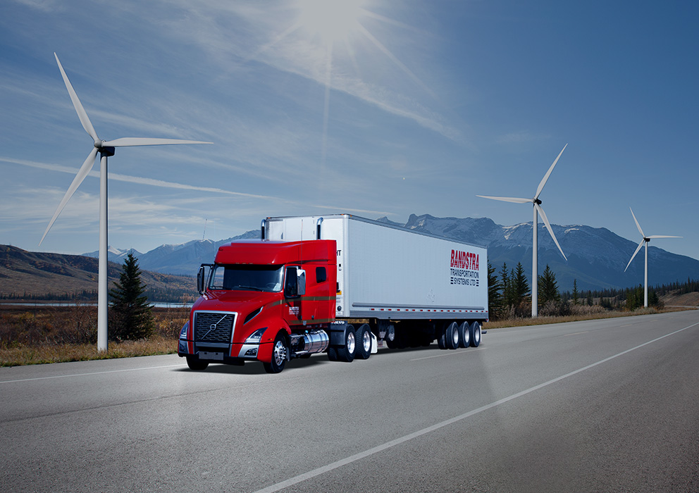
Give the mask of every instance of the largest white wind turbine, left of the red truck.
M 75 106 L 75 111 L 78 112 L 78 118 L 80 118 L 80 123 L 85 129 L 85 132 L 92 137 L 94 141 L 94 146 L 92 151 L 90 151 L 85 162 L 80 166 L 78 174 L 73 178 L 73 182 L 68 187 L 66 194 L 63 196 L 61 203 L 58 204 L 56 212 L 54 212 L 54 217 L 49 221 L 49 225 L 44 231 L 44 236 L 42 236 L 39 245 L 42 244 L 44 238 L 48 234 L 51 226 L 54 224 L 58 214 L 63 211 L 63 207 L 66 206 L 70 197 L 73 196 L 75 190 L 78 189 L 82 180 L 89 174 L 90 170 L 94 166 L 94 161 L 97 159 L 97 153 L 99 152 L 99 271 L 97 275 L 97 350 L 106 351 L 107 350 L 107 293 L 108 293 L 108 281 L 107 281 L 107 157 L 114 155 L 114 149 L 116 147 L 130 147 L 130 146 L 161 146 L 166 144 L 211 144 L 211 142 L 200 142 L 197 140 L 179 140 L 179 139 L 149 139 L 144 137 L 123 137 L 121 139 L 115 140 L 101 140 L 97 137 L 97 132 L 94 131 L 92 123 L 90 123 L 89 118 L 87 118 L 87 113 L 85 108 L 82 107 L 80 99 L 78 99 L 78 94 L 75 94 L 75 89 L 73 85 L 70 84 L 68 80 L 68 75 L 66 71 L 63 70 L 61 61 L 58 60 L 58 55 L 54 53 L 56 57 L 56 63 L 58 63 L 58 69 L 61 70 L 61 75 L 63 76 L 63 82 L 66 83 L 66 89 L 68 89 L 68 94 L 70 94 L 70 99 L 73 101 L 73 106 Z

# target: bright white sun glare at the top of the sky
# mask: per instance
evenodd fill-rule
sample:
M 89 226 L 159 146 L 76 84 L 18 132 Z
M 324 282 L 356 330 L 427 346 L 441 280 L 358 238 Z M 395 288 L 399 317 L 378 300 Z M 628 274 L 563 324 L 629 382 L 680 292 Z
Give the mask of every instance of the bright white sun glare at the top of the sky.
M 299 0 L 301 25 L 323 42 L 346 39 L 358 25 L 364 0 Z

